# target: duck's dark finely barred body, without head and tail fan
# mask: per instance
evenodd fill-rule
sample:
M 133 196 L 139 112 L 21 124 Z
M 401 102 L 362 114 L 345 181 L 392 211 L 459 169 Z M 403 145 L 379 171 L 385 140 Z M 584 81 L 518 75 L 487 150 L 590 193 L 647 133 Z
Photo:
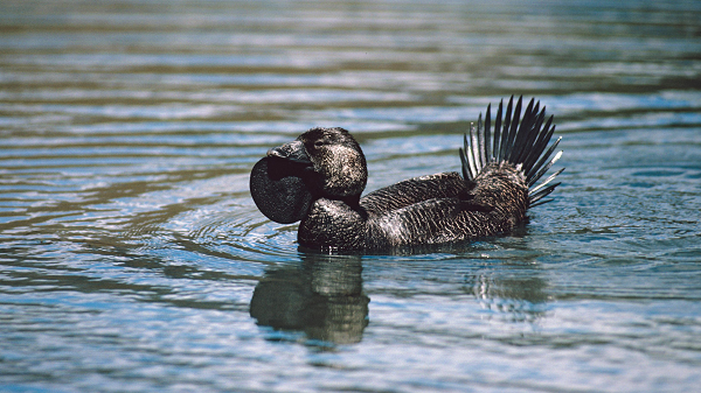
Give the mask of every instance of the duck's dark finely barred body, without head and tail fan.
M 507 233 L 525 218 L 528 190 L 519 183 L 501 186 L 501 192 L 509 190 L 509 198 L 519 203 L 467 199 L 472 190 L 457 172 L 376 190 L 362 197 L 357 208 L 336 199 L 316 199 L 301 220 L 298 240 L 312 248 L 388 250 Z M 324 228 L 334 230 L 320 230 Z

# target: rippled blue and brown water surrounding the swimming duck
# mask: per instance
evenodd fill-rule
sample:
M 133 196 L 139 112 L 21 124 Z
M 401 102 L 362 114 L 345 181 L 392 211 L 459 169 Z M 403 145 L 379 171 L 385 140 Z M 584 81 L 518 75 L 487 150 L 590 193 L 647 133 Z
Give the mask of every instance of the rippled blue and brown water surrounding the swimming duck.
M 0 390 L 695 391 L 700 4 L 4 1 Z M 314 255 L 250 199 L 314 125 L 457 170 L 510 94 L 567 168 L 512 236 Z

